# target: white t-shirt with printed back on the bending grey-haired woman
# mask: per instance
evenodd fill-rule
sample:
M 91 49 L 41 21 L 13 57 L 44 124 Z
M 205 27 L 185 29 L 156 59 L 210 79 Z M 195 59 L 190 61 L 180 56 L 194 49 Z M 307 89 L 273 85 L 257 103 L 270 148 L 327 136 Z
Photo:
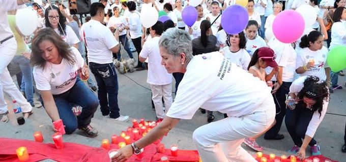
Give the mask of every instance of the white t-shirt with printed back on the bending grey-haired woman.
M 196 55 L 187 65 L 166 115 L 191 119 L 201 107 L 239 117 L 264 111 L 261 104 L 273 100 L 270 92 L 265 82 L 230 63 L 220 52 Z

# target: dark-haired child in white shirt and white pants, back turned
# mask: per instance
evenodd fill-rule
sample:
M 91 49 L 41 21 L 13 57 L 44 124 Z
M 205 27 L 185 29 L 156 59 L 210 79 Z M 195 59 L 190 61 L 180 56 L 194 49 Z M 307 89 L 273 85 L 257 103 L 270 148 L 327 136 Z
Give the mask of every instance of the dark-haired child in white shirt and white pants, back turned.
M 160 21 L 156 22 L 150 28 L 152 38 L 144 43 L 139 54 L 140 62 L 144 62 L 149 58 L 147 83 L 150 84 L 153 92 L 152 99 L 158 119 L 165 117 L 165 112 L 168 111 L 172 104 L 172 74 L 168 73 L 164 66 L 161 65 L 162 58 L 159 49 L 159 40 L 163 30 L 163 23 Z M 162 98 L 164 100 L 165 112 L 163 111 Z

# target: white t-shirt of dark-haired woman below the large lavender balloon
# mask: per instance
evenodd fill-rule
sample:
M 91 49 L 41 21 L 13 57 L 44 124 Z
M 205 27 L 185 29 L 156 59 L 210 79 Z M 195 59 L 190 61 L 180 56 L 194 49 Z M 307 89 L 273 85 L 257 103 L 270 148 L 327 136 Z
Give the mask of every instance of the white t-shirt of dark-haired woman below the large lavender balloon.
M 227 46 L 223 48 L 222 52 L 225 58 L 227 58 L 230 62 L 247 71 L 251 57 L 245 49 L 240 49 L 238 52 L 231 52 Z

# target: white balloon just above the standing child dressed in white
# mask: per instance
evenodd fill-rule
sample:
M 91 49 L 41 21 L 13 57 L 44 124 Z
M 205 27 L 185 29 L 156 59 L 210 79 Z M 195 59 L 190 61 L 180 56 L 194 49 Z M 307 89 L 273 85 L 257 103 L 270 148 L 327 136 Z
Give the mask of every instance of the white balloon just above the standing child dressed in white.
M 156 24 L 159 13 L 154 7 L 142 7 L 140 11 L 140 22 L 145 28 L 150 28 Z

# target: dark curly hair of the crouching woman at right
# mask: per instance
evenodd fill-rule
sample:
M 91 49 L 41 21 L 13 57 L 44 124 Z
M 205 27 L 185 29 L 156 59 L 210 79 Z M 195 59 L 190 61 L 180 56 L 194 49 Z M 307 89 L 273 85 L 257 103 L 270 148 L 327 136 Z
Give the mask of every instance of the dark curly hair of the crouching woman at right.
M 297 99 L 299 100 L 298 104 L 305 107 L 306 104 L 303 101 L 303 97 L 316 101 L 316 103 L 312 105 L 311 110 L 318 111 L 321 117 L 323 100 L 329 100 L 329 93 L 326 82 L 323 81 L 319 83 L 319 81 L 320 78 L 317 76 L 308 76 L 304 81 L 303 89 L 297 95 Z

